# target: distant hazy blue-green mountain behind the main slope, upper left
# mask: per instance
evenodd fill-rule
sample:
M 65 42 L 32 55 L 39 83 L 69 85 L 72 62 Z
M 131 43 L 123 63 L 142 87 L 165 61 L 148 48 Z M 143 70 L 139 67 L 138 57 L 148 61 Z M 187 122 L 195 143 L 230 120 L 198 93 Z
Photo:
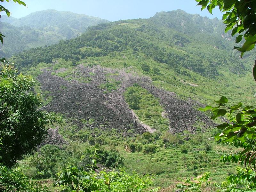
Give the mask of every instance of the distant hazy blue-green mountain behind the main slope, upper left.
M 61 39 L 79 36 L 89 26 L 102 22 L 109 21 L 56 10 L 34 12 L 20 19 L 2 16 L 0 28 L 6 38 L 4 45 L 0 48 L 0 53 L 3 57 L 10 57 L 28 48 L 56 44 Z

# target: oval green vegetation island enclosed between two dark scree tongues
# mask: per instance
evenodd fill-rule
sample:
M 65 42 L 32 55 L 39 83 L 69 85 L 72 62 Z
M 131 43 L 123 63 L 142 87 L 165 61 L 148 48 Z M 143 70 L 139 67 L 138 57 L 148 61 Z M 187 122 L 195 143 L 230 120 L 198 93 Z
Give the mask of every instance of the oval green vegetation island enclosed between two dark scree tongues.
M 152 94 L 138 84 L 129 87 L 124 93 L 125 100 L 140 121 L 159 131 L 168 130 L 169 121 L 163 117 L 164 108 Z

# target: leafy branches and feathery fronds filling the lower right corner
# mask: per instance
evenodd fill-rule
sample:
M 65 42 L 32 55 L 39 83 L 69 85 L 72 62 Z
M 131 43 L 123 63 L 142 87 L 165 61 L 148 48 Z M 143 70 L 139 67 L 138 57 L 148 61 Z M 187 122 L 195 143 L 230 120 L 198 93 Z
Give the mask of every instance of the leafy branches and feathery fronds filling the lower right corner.
M 220 161 L 240 162 L 244 164 L 246 169 L 237 167 L 237 174 L 231 174 L 221 185 L 214 184 L 217 191 L 252 191 L 256 190 L 256 109 L 253 106 L 243 107 L 240 102 L 237 105 L 230 106 L 228 99 L 224 96 L 220 100 L 215 101 L 218 106 L 206 106 L 200 108 L 202 111 L 211 110 L 212 119 L 226 115 L 229 122 L 222 123 L 217 126 L 221 133 L 215 135 L 216 141 L 234 146 L 236 148 L 244 148 L 240 153 L 231 153 L 221 156 Z M 206 173 L 204 173 L 206 174 Z M 208 175 L 208 173 L 207 173 Z M 209 177 L 207 178 L 208 182 Z M 190 179 L 183 180 L 188 185 L 179 184 L 178 188 L 186 188 L 185 191 L 204 191 L 199 183 L 191 182 Z M 210 183 L 210 182 L 209 182 Z

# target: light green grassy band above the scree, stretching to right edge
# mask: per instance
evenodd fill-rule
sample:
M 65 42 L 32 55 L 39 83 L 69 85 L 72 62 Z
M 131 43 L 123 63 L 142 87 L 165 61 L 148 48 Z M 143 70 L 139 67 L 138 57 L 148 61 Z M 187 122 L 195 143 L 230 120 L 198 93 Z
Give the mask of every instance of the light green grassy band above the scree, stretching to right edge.
M 201 76 L 183 67 L 179 67 L 181 73 L 177 73 L 167 64 L 156 62 L 141 52 L 137 52 L 137 55 L 132 54 L 131 49 L 114 52 L 112 55 L 103 57 L 88 57 L 77 63 L 83 63 L 84 66 L 100 65 L 113 69 L 126 68 L 128 72 L 135 72 L 136 75 L 151 77 L 155 86 L 175 92 L 182 99 L 191 98 L 203 104 L 214 104 L 213 101 L 223 95 L 229 99 L 231 104 L 243 102 L 245 105 L 249 105 L 256 101 L 255 92 L 253 92 L 256 86 L 251 71 L 236 75 L 230 74 L 225 66 L 219 66 L 220 75 L 214 78 Z M 149 72 L 141 69 L 142 63 L 146 63 L 150 67 Z M 160 70 L 158 73 L 153 71 L 155 66 Z M 182 74 L 182 71 L 186 71 L 187 75 Z M 198 86 L 191 86 L 191 84 Z

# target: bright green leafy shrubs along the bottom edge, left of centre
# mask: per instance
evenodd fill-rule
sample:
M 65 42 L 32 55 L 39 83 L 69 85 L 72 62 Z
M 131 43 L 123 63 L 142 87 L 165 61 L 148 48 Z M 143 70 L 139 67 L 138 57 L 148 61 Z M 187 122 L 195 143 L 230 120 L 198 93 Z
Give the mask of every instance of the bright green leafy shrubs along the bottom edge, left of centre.
M 65 171 L 56 174 L 55 180 L 54 185 L 60 185 L 62 187 L 61 192 L 153 192 L 159 189 L 151 188 L 153 184 L 151 177 L 140 177 L 137 174 L 129 175 L 123 169 L 108 173 L 102 171 L 98 174 L 93 170 L 86 172 L 82 168 L 68 166 Z

